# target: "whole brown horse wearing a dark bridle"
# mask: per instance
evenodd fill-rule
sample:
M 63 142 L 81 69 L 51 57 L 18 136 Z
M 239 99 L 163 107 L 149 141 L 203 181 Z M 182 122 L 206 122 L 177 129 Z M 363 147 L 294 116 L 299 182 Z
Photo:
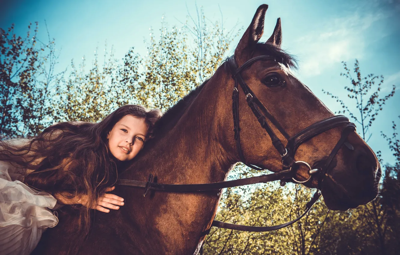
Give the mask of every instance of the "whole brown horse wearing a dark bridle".
M 280 19 L 266 43 L 258 43 L 264 29 L 267 5 L 261 5 L 246 30 L 234 57 L 238 66 L 261 55 L 275 60 L 257 61 L 243 70 L 242 78 L 289 135 L 334 114 L 294 77 L 288 68 L 292 58 L 280 49 Z M 240 161 L 232 129 L 232 89 L 234 80 L 226 63 L 206 83 L 180 100 L 160 120 L 156 138 L 150 141 L 126 169 L 121 179 L 146 181 L 149 174 L 160 183 L 209 183 L 223 181 Z M 248 163 L 277 172 L 281 155 L 267 132 L 239 92 L 241 149 Z M 286 142 L 274 125 L 278 137 Z M 329 129 L 306 141 L 294 155 L 310 164 L 328 157 L 340 139 L 343 127 Z M 347 210 L 366 204 L 378 192 L 379 163 L 374 152 L 352 131 L 352 150 L 340 147 L 322 185 L 328 208 Z M 300 167 L 296 178 L 308 173 Z M 317 187 L 310 179 L 308 187 Z M 216 214 L 221 191 L 168 193 L 118 186 L 115 193 L 125 198 L 120 210 L 97 212 L 87 239 L 71 246 L 76 239 L 76 216 L 68 208 L 59 215 L 58 226 L 48 229 L 34 254 L 196 254 Z

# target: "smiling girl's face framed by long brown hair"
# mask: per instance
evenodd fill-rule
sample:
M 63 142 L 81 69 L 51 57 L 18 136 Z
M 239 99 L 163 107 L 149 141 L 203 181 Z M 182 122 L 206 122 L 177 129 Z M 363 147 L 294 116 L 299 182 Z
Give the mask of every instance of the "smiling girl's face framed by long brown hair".
M 144 145 L 147 130 L 143 118 L 124 116 L 107 135 L 110 152 L 121 161 L 133 159 Z

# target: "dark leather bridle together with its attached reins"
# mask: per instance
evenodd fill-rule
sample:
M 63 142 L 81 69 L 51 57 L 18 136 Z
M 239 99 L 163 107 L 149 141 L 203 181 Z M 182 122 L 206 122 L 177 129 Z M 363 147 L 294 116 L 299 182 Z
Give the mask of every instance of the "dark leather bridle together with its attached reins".
M 356 130 L 356 126 L 349 121 L 349 119 L 345 116 L 338 115 L 338 116 L 332 116 L 330 118 L 327 118 L 325 120 L 321 120 L 319 122 L 316 122 L 312 124 L 311 126 L 308 126 L 307 128 L 303 129 L 299 133 L 293 135 L 290 137 L 288 133 L 280 126 L 278 121 L 268 112 L 268 110 L 264 107 L 264 105 L 258 100 L 256 95 L 252 92 L 252 90 L 247 86 L 246 82 L 242 79 L 242 76 L 240 75 L 241 72 L 250 67 L 254 62 L 260 61 L 260 60 L 273 60 L 275 59 L 271 56 L 264 55 L 264 56 L 258 56 L 255 58 L 252 58 L 248 60 L 246 63 L 244 63 L 240 68 L 238 68 L 234 55 L 230 56 L 227 60 L 227 64 L 230 68 L 230 72 L 232 74 L 232 78 L 235 81 L 235 86 L 233 88 L 233 94 L 232 94 L 232 114 L 233 114 L 233 121 L 234 121 L 234 138 L 236 140 L 236 147 L 238 149 L 238 154 L 240 157 L 240 161 L 247 165 L 248 167 L 251 167 L 253 169 L 257 170 L 264 170 L 261 167 L 258 167 L 256 165 L 252 165 L 250 163 L 246 163 L 246 159 L 244 158 L 241 146 L 240 146 L 240 126 L 239 126 L 239 91 L 238 91 L 238 84 L 240 84 L 240 87 L 242 88 L 244 94 L 246 95 L 246 101 L 250 109 L 252 110 L 254 116 L 256 116 L 256 119 L 260 123 L 261 127 L 266 130 L 268 135 L 270 136 L 272 140 L 272 144 L 278 151 L 278 153 L 282 157 L 282 171 L 279 171 L 277 173 L 271 173 L 271 174 L 266 174 L 266 175 L 260 175 L 256 177 L 249 177 L 249 178 L 244 178 L 244 179 L 236 179 L 236 180 L 231 180 L 231 181 L 220 181 L 220 182 L 214 182 L 214 183 L 201 183 L 201 184 L 163 184 L 163 183 L 157 183 L 154 182 L 154 176 L 150 174 L 148 181 L 134 181 L 134 180 L 128 180 L 128 179 L 119 179 L 117 181 L 118 185 L 126 185 L 126 186 L 132 186 L 132 187 L 142 187 L 144 188 L 144 193 L 143 196 L 146 195 L 146 193 L 152 189 L 152 190 L 158 190 L 158 191 L 168 191 L 168 192 L 198 192 L 198 191 L 215 191 L 223 188 L 228 188 L 228 187 L 238 187 L 238 186 L 243 186 L 243 185 L 249 185 L 249 184 L 255 184 L 255 183 L 266 183 L 269 181 L 277 181 L 280 180 L 281 185 L 285 185 L 286 182 L 294 182 L 294 183 L 305 183 L 306 181 L 309 181 L 312 176 L 317 176 L 318 175 L 318 189 L 321 189 L 321 183 L 324 175 L 328 173 L 328 168 L 330 166 L 330 163 L 332 162 L 332 159 L 335 157 L 336 153 L 339 151 L 340 147 L 342 145 L 346 145 L 350 150 L 353 149 L 352 145 L 346 141 L 346 138 L 348 135 Z M 280 141 L 278 136 L 274 133 L 274 131 L 271 129 L 270 125 L 266 121 L 268 120 L 278 129 L 278 131 L 288 140 L 286 147 L 283 145 L 283 143 Z M 315 168 L 312 169 L 310 164 L 304 161 L 295 161 L 294 160 L 294 154 L 296 153 L 296 150 L 298 147 L 311 139 L 312 137 L 315 137 L 316 135 L 319 135 L 320 133 L 323 133 L 329 129 L 336 128 L 338 126 L 343 126 L 345 125 L 344 129 L 342 129 L 342 134 L 339 139 L 339 141 L 336 143 L 335 147 L 332 149 L 332 152 L 326 159 L 326 161 L 323 163 L 323 166 L 320 168 Z M 296 176 L 296 171 L 299 167 L 299 165 L 306 165 L 308 167 L 308 174 L 310 175 L 308 179 L 305 181 L 298 181 L 295 179 Z M 319 199 L 320 197 L 320 192 L 317 190 L 312 199 L 306 204 L 305 211 L 302 215 L 297 217 L 296 219 L 289 221 L 284 224 L 280 225 L 275 225 L 275 226 L 266 226 L 266 227 L 259 227 L 259 226 L 246 226 L 246 225 L 238 225 L 238 224 L 231 224 L 231 223 L 225 223 L 221 221 L 216 221 L 214 220 L 212 222 L 211 226 L 214 227 L 221 227 L 225 229 L 234 229 L 234 230 L 240 230 L 240 231 L 254 231 L 254 232 L 263 232 L 263 231 L 272 231 L 276 229 L 281 229 L 283 227 L 287 227 L 299 219 L 301 219 L 308 211 L 310 211 L 312 205 Z M 211 229 L 211 227 L 210 227 Z M 210 229 L 206 230 L 203 232 L 204 235 L 208 234 L 210 232 Z

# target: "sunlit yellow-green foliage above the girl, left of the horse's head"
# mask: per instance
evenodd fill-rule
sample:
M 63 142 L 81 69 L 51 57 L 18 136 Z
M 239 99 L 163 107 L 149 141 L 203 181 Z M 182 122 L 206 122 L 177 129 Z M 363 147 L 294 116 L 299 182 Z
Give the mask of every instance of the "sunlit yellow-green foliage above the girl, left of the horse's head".
M 190 33 L 201 34 L 201 38 L 189 41 Z M 224 33 L 218 22 L 212 30 L 206 29 L 206 23 L 189 30 L 187 23 L 182 28 L 170 28 L 163 17 L 158 38 L 150 28 L 146 56 L 131 48 L 120 63 L 113 50 L 108 55 L 105 48 L 100 65 L 96 49 L 90 70 L 85 70 L 85 58 L 78 68 L 72 62 L 69 77 L 57 90 L 54 121 L 98 122 L 124 104 L 168 110 L 202 82 L 204 75 L 215 72 L 233 40 L 232 32 Z M 202 60 L 196 58 L 199 48 L 203 50 Z

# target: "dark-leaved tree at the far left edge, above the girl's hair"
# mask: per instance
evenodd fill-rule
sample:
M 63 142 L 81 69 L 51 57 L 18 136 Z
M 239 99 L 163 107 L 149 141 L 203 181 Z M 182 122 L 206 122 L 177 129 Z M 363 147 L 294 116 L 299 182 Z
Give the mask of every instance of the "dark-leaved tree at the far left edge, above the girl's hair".
M 44 44 L 33 36 L 14 34 L 14 24 L 0 29 L 0 137 L 35 135 L 51 124 L 50 98 L 63 72 L 54 74 L 58 56 L 54 39 Z

